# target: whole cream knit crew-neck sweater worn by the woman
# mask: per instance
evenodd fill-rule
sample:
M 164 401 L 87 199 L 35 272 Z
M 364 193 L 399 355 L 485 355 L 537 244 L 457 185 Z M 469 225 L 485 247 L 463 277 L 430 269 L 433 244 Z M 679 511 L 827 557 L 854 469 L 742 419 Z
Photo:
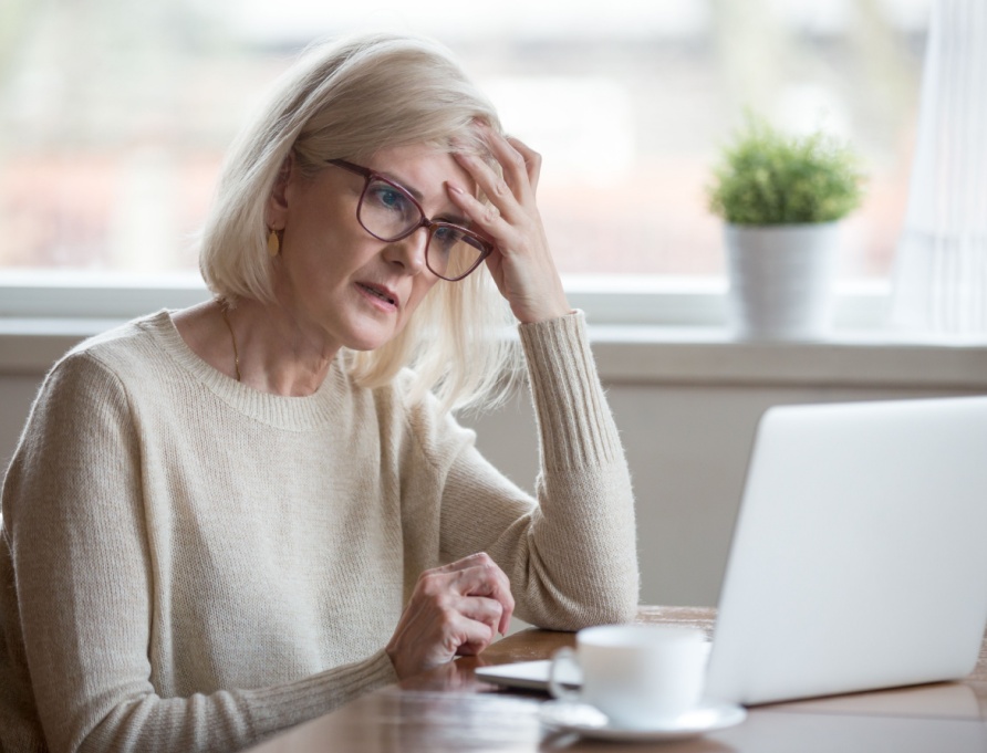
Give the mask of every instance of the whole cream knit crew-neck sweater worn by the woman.
M 538 502 L 404 379 L 267 395 L 167 312 L 48 376 L 3 484 L 0 750 L 229 752 L 395 681 L 418 574 L 486 551 L 517 614 L 637 596 L 627 468 L 581 314 L 522 325 Z

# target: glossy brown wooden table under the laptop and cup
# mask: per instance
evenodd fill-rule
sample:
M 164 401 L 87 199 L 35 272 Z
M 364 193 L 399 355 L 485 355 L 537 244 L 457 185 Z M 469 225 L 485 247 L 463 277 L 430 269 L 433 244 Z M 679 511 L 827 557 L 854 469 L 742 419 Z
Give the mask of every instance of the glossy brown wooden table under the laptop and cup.
M 638 621 L 713 628 L 713 609 L 642 607 Z M 750 709 L 739 726 L 690 741 L 603 743 L 539 722 L 546 696 L 497 689 L 477 666 L 546 659 L 575 636 L 523 630 L 479 658 L 370 693 L 251 749 L 252 753 L 398 751 L 661 751 L 662 753 L 987 753 L 987 639 L 963 682 L 858 693 Z

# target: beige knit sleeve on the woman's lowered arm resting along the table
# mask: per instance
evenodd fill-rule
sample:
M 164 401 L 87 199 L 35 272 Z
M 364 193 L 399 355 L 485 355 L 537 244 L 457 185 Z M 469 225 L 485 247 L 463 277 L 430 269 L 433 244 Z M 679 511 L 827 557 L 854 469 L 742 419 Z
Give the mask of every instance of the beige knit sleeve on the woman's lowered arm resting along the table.
M 19 610 L 3 616 L 8 642 L 19 634 L 8 649 L 38 720 L 0 741 L 12 734 L 17 750 L 53 752 L 229 752 L 396 679 L 382 650 L 279 687 L 157 696 L 142 430 L 125 388 L 89 355 L 58 366 L 35 401 L 4 482 L 0 569 Z M 39 723 L 43 743 L 31 732 Z

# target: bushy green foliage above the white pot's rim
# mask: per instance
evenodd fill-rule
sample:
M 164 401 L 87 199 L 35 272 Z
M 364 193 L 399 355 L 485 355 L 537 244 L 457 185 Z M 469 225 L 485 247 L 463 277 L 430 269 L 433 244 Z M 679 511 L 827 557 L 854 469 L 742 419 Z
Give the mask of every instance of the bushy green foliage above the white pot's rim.
M 751 115 L 713 175 L 709 209 L 733 224 L 832 222 L 863 197 L 860 158 L 849 144 L 822 132 L 790 136 Z

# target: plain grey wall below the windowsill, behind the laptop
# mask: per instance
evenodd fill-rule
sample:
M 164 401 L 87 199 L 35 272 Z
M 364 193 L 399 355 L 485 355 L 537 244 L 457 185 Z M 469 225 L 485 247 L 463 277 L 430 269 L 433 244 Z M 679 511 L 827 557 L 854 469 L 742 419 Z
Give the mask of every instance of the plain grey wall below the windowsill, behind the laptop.
M 637 500 L 642 602 L 716 604 L 757 420 L 768 407 L 946 394 L 962 393 L 611 384 Z M 523 405 L 476 426 L 484 453 L 530 489 L 537 448 Z

